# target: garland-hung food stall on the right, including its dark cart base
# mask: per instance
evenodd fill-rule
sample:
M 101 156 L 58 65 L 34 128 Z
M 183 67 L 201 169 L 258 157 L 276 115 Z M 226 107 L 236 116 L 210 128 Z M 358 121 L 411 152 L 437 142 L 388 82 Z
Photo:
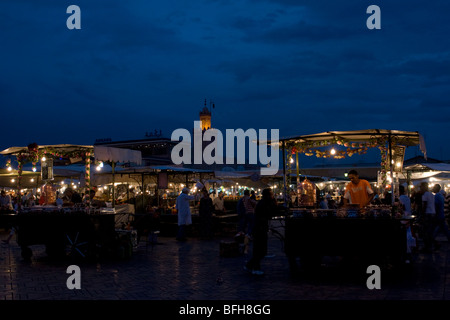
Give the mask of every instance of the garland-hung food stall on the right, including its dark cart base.
M 275 142 L 274 142 L 275 143 Z M 403 166 L 406 147 L 420 145 L 426 156 L 425 143 L 418 132 L 397 130 L 331 131 L 280 139 L 283 154 L 284 190 L 291 175 L 291 159 L 297 161 L 297 207 L 290 208 L 284 217 L 284 249 L 291 264 L 297 267 L 317 266 L 324 256 L 361 257 L 371 264 L 404 261 L 407 252 L 406 227 L 414 217 L 406 217 L 397 207 L 395 196 L 391 203 L 348 205 L 336 209 L 318 209 L 315 186 L 305 179 L 300 183 L 299 154 L 318 158 L 343 159 L 364 154 L 369 148 L 381 152 L 380 189 L 390 189 L 395 195 L 396 172 Z M 285 197 L 286 198 L 286 197 Z M 286 198 L 287 199 L 287 198 Z

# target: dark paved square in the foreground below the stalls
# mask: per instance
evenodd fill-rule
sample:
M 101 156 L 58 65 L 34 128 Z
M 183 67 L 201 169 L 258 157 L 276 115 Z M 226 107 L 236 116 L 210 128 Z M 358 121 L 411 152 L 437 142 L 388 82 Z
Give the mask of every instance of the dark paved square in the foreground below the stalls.
M 6 231 L 0 238 L 7 237 Z M 221 257 L 220 241 L 191 238 L 179 243 L 159 238 L 146 248 L 141 242 L 132 258 L 79 263 L 81 289 L 69 290 L 70 261 L 51 261 L 43 246 L 33 246 L 31 262 L 24 262 L 15 241 L 1 244 L 0 299 L 3 300 L 448 300 L 450 246 L 432 254 L 417 254 L 409 269 L 393 274 L 382 269 L 381 289 L 369 290 L 367 274 L 324 261 L 315 275 L 292 276 L 281 242 L 269 240 L 264 276 L 243 270 L 248 254 Z M 359 272 L 359 273 L 358 273 Z

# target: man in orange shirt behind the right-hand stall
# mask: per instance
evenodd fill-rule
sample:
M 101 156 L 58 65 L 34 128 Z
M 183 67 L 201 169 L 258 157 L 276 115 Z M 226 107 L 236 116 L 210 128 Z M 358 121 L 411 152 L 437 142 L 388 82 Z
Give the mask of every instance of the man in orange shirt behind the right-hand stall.
M 363 208 L 370 204 L 375 193 L 370 187 L 370 183 L 367 180 L 360 179 L 356 170 L 350 170 L 348 173 L 350 182 L 345 187 L 344 193 L 344 205 L 359 204 L 360 208 Z

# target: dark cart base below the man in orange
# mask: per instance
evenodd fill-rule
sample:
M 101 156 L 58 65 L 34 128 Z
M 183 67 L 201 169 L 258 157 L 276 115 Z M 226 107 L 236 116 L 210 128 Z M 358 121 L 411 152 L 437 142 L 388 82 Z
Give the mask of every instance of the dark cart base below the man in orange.
M 324 256 L 363 259 L 369 266 L 405 261 L 407 239 L 402 219 L 338 218 L 334 216 L 285 219 L 284 248 L 291 268 L 297 258 L 304 267 L 317 267 Z

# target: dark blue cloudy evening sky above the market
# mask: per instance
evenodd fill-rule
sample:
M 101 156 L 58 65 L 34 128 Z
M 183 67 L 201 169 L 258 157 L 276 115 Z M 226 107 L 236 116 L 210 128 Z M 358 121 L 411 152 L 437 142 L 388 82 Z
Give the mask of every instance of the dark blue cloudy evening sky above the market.
M 395 2 L 395 3 L 393 3 Z M 81 30 L 66 9 L 81 8 Z M 381 30 L 369 30 L 369 5 Z M 450 159 L 450 2 L 1 0 L 3 150 L 213 126 L 398 129 Z

